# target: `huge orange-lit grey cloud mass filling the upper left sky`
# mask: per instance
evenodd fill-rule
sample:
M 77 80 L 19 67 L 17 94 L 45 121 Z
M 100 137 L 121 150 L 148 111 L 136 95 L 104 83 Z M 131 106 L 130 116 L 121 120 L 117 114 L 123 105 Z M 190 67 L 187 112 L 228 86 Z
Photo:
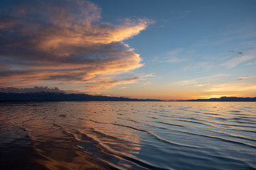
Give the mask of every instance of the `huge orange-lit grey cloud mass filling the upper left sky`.
M 0 7 L 2 86 L 47 81 L 91 88 L 90 83 L 99 76 L 124 74 L 143 66 L 139 54 L 123 40 L 153 23 L 148 19 L 104 23 L 101 9 L 90 1 L 14 4 Z

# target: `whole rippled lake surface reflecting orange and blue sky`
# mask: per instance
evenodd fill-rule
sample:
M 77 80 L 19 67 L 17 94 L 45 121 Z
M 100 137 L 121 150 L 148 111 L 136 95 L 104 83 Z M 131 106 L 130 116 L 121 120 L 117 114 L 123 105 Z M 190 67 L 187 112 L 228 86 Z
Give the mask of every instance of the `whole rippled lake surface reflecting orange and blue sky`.
M 256 103 L 0 103 L 1 169 L 256 169 Z

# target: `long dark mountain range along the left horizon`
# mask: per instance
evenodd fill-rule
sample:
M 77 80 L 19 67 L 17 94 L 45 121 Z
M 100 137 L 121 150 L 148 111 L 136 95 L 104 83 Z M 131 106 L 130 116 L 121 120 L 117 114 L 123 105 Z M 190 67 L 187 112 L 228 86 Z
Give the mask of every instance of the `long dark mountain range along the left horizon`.
M 137 99 L 109 96 L 92 96 L 89 94 L 64 94 L 56 92 L 3 93 L 0 101 L 161 101 L 156 99 Z

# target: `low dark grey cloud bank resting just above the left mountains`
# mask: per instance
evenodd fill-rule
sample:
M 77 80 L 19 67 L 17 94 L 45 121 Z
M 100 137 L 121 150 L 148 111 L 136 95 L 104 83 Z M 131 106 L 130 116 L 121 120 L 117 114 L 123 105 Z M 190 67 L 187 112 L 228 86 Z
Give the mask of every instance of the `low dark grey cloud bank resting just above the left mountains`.
M 34 86 L 32 88 L 15 88 L 15 87 L 7 87 L 7 88 L 1 88 L 0 92 L 4 93 L 31 93 L 31 92 L 40 92 L 40 91 L 47 91 L 47 92 L 57 92 L 57 93 L 63 93 L 65 94 L 65 91 L 62 91 L 58 89 L 58 87 L 50 88 L 48 86 Z

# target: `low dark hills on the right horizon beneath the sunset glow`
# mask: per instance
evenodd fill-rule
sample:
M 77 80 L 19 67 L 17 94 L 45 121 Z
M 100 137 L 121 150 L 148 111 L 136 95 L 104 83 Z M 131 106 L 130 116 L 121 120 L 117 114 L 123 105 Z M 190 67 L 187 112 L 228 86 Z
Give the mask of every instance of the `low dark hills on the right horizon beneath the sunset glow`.
M 207 98 L 207 99 L 194 99 L 186 101 L 256 101 L 255 98 L 242 98 L 242 97 L 221 97 L 221 98 Z

